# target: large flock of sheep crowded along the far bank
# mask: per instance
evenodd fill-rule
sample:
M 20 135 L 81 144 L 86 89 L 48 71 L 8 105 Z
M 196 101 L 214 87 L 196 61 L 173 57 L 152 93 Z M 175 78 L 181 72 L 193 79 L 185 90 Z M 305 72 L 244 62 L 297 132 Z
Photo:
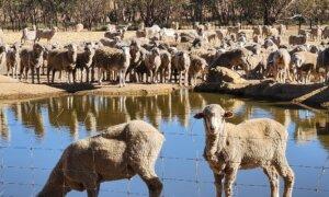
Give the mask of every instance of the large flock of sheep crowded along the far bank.
M 69 83 L 80 76 L 80 82 L 102 83 L 106 79 L 118 81 L 121 86 L 126 81 L 195 85 L 197 79 L 206 80 L 213 67 L 236 70 L 246 79 L 274 78 L 282 83 L 324 82 L 328 78 L 328 26 L 299 30 L 299 35 L 288 36 L 288 44 L 283 42 L 285 25 L 253 26 L 252 35 L 241 25 L 219 30 L 211 24 L 196 25 L 194 31 L 140 25 L 136 36 L 128 39 L 126 30 L 109 25 L 98 42 L 60 46 L 49 44 L 56 27 L 25 28 L 22 43 L 32 40 L 33 47 L 2 44 L 0 66 L 15 78 L 27 80 L 31 76 L 33 83 L 35 73 L 39 83 L 41 72 L 47 70 L 48 83 L 55 82 L 58 71 L 60 79 L 67 73 Z M 41 38 L 48 44 L 38 44 Z M 308 40 L 317 44 L 309 45 Z

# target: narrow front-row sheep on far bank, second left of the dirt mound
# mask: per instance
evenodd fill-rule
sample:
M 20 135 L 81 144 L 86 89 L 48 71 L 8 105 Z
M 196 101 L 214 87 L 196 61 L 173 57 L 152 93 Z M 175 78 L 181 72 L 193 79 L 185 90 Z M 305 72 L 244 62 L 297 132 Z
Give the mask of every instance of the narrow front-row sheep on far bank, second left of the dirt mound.
M 177 51 L 172 58 L 172 69 L 179 73 L 179 84 L 182 85 L 184 74 L 184 85 L 189 85 L 189 69 L 191 66 L 191 58 L 186 51 Z

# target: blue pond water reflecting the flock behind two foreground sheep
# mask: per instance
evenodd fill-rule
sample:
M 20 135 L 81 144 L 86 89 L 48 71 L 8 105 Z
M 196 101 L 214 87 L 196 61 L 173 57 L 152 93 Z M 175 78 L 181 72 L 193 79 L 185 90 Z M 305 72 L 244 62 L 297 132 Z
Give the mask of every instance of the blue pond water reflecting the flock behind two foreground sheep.
M 144 119 L 166 136 L 157 173 L 164 196 L 215 196 L 203 161 L 204 130 L 193 114 L 218 103 L 235 112 L 230 121 L 270 117 L 290 132 L 287 158 L 296 174 L 294 196 L 329 196 L 329 117 L 324 113 L 216 94 L 174 92 L 158 96 L 66 96 L 0 103 L 0 196 L 34 196 L 63 149 L 109 126 Z M 281 183 L 282 186 L 283 183 Z M 236 196 L 269 196 L 261 170 L 239 171 Z M 145 196 L 139 177 L 104 183 L 101 196 Z M 71 192 L 68 196 L 86 196 Z

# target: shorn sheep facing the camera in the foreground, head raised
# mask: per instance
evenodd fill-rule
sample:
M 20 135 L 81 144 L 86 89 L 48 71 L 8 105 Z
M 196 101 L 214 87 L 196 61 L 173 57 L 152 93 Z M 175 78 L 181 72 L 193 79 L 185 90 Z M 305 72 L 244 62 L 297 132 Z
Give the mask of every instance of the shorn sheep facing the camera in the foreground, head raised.
M 272 197 L 279 197 L 279 175 L 284 179 L 283 196 L 292 196 L 295 177 L 285 157 L 288 134 L 283 125 L 266 118 L 226 123 L 232 113 L 217 104 L 194 117 L 204 119 L 204 158 L 214 172 L 217 197 L 222 196 L 223 179 L 225 194 L 231 197 L 238 170 L 256 167 L 262 167 L 269 177 Z

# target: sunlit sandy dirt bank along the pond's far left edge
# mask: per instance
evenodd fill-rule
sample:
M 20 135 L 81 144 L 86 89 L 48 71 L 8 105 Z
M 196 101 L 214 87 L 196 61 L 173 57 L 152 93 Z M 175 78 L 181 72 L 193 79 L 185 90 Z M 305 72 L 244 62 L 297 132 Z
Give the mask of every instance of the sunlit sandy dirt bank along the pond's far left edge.
M 13 79 L 0 76 L 0 100 L 21 100 L 58 96 L 66 94 L 99 94 L 99 95 L 151 95 L 171 93 L 179 89 L 174 84 L 127 84 L 118 85 L 93 85 L 86 83 L 66 84 L 29 84 L 20 83 Z

